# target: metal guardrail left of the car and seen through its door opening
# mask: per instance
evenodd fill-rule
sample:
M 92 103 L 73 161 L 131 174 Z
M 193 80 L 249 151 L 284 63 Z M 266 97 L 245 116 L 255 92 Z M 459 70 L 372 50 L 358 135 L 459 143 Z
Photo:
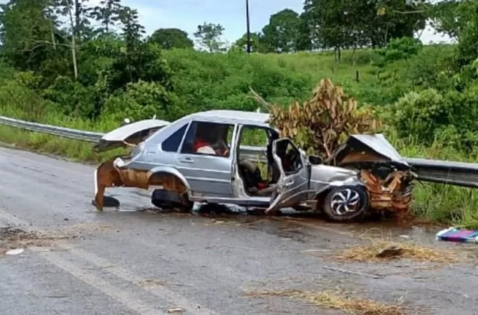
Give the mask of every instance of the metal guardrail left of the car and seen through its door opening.
M 83 140 L 87 142 L 98 142 L 104 135 L 104 133 L 100 132 L 57 127 L 52 126 L 51 124 L 39 124 L 38 122 L 27 122 L 25 120 L 17 120 L 5 116 L 0 116 L 0 124 L 28 131 L 47 133 L 49 135 L 58 135 L 63 138 Z M 243 155 L 259 158 L 259 160 L 264 160 L 262 156 L 265 157 L 266 154 L 266 148 L 261 146 L 241 146 L 240 151 Z

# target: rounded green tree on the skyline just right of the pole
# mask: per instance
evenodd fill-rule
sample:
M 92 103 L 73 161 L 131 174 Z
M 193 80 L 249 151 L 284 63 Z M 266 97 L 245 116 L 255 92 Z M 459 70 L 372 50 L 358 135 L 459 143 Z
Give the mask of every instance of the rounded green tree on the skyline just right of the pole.
M 284 9 L 272 14 L 269 24 L 262 29 L 264 43 L 273 52 L 297 50 L 300 23 L 299 14 L 291 9 Z

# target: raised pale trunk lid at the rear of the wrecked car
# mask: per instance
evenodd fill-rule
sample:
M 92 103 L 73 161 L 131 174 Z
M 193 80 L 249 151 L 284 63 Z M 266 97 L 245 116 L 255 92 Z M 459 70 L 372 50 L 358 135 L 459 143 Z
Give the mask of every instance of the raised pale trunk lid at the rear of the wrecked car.
M 96 152 L 104 152 L 124 146 L 124 142 L 139 144 L 144 141 L 152 131 L 157 131 L 170 124 L 166 120 L 146 119 L 126 124 L 102 136 L 101 140 L 93 146 Z

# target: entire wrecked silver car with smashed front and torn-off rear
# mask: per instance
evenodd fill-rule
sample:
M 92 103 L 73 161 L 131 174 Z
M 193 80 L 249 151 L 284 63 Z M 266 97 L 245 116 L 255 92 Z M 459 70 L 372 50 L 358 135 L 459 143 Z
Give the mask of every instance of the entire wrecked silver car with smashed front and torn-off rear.
M 292 140 L 279 138 L 268 120 L 266 113 L 217 110 L 172 123 L 143 120 L 107 133 L 95 151 L 122 145 L 133 150 L 95 170 L 96 208 L 103 208 L 105 188 L 123 186 L 152 189 L 151 202 L 159 208 L 189 211 L 200 202 L 265 208 L 273 214 L 293 207 L 348 221 L 366 213 L 371 202 L 363 172 L 352 162 L 402 163 L 398 153 L 374 149 L 372 138 L 388 144 L 374 135 L 367 140 L 352 137 L 358 145 L 342 146 L 330 161 L 306 157 Z M 263 160 L 248 155 L 251 141 L 265 146 Z M 363 158 L 364 145 L 368 160 Z M 348 160 L 352 153 L 362 158 Z

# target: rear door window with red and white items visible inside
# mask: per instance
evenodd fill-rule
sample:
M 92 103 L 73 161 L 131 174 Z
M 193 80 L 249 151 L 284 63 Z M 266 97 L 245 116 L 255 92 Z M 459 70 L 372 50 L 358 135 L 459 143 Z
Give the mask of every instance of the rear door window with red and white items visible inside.
M 187 130 L 181 153 L 216 155 L 229 158 L 234 124 L 192 122 Z

